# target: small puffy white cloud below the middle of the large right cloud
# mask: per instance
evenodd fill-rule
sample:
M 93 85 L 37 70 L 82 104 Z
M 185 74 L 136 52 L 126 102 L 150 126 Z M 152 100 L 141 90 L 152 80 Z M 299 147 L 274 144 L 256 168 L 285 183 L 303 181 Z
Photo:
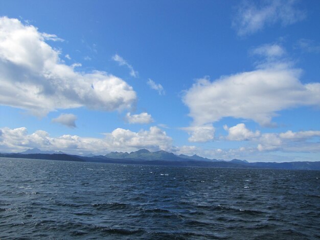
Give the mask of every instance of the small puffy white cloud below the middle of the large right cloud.
M 253 138 L 257 138 L 261 135 L 260 131 L 252 132 L 247 129 L 243 123 L 237 124 L 231 128 L 224 125 L 223 128 L 228 132 L 226 139 L 232 141 L 252 140 Z

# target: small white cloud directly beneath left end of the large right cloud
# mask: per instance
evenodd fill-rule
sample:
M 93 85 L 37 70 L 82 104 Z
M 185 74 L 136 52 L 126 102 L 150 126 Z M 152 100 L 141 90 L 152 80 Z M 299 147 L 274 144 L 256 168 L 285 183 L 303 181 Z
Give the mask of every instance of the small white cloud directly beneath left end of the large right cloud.
M 188 132 L 190 142 L 206 142 L 214 139 L 215 128 L 212 125 L 192 126 L 181 128 Z

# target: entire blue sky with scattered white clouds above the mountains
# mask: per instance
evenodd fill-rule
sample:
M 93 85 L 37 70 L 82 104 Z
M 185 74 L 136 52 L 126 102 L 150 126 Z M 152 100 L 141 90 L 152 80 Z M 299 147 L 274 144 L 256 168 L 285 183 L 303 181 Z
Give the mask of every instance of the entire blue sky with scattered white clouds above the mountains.
M 0 1 L 0 152 L 320 161 L 320 2 Z

